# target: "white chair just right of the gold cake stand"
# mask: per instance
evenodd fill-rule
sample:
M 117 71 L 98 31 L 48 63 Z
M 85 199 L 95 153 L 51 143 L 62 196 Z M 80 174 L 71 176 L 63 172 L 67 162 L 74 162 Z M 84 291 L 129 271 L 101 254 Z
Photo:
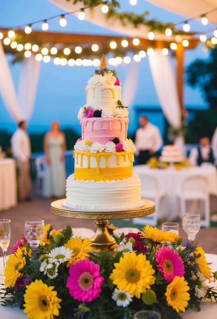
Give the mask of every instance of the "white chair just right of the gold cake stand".
M 147 174 L 139 174 L 141 179 L 141 196 L 143 199 L 150 199 L 155 202 L 156 211 L 144 217 L 133 218 L 133 224 L 157 226 L 159 218 L 159 210 L 165 210 L 166 193 L 160 189 L 159 182 L 154 176 Z M 160 206 L 160 202 L 164 200 L 164 206 Z M 163 212 L 164 213 L 164 212 Z M 163 216 L 161 215 L 161 218 Z

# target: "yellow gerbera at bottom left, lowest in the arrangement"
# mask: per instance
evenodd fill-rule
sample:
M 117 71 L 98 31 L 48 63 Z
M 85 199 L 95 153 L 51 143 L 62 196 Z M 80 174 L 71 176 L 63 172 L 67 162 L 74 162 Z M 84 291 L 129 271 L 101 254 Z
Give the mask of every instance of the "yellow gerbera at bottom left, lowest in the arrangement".
M 36 279 L 26 286 L 24 294 L 24 313 L 28 319 L 53 319 L 59 316 L 60 302 L 57 292 L 52 291 L 54 286 L 48 287 L 41 279 Z

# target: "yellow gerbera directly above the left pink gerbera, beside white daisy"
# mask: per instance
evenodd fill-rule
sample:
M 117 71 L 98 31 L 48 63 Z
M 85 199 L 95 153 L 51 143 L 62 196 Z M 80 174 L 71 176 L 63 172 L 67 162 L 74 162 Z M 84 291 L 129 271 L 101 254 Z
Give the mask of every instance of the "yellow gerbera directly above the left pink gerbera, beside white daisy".
M 64 245 L 66 248 L 72 249 L 72 257 L 67 263 L 67 267 L 74 265 L 79 260 L 83 260 L 86 257 L 89 257 L 87 252 L 90 252 L 93 249 L 93 243 L 88 239 L 81 239 L 81 236 L 75 236 L 75 238 L 70 238 L 67 243 Z

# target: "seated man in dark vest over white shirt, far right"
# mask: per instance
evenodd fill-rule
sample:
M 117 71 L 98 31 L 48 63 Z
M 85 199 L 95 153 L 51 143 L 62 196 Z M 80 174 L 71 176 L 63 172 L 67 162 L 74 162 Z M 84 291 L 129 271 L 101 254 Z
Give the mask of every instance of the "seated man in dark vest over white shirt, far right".
M 193 165 L 201 165 L 204 162 L 217 164 L 217 150 L 210 146 L 208 136 L 200 137 L 199 147 L 192 148 L 188 159 Z

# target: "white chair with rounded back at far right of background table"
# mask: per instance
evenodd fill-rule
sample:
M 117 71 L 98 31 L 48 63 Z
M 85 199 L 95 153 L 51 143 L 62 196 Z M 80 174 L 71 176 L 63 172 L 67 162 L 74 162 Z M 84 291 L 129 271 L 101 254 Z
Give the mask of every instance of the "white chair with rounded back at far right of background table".
M 210 226 L 210 203 L 208 180 L 205 176 L 195 175 L 184 179 L 182 182 L 181 192 L 177 194 L 180 204 L 180 217 L 187 213 L 186 202 L 198 201 L 201 226 Z M 200 218 L 201 218 L 200 216 Z

